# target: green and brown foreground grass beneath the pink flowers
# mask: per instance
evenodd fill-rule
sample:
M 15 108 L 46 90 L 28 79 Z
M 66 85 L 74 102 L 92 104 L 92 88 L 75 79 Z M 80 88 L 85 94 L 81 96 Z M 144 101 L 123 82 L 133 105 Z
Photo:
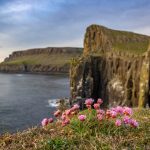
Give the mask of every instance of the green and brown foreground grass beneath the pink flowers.
M 93 116 L 84 123 L 74 118 L 64 128 L 57 122 L 46 129 L 35 127 L 13 135 L 5 134 L 0 137 L 0 149 L 149 150 L 150 109 L 135 109 L 134 112 L 134 118 L 140 123 L 139 128 L 117 128 L 112 122 L 100 123 Z

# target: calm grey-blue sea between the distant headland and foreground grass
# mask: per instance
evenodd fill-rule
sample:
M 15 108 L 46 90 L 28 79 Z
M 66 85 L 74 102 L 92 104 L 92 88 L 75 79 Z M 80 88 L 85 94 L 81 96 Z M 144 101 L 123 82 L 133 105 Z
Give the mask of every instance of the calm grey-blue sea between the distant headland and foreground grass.
M 0 134 L 39 124 L 55 110 L 49 102 L 68 96 L 67 76 L 0 74 Z

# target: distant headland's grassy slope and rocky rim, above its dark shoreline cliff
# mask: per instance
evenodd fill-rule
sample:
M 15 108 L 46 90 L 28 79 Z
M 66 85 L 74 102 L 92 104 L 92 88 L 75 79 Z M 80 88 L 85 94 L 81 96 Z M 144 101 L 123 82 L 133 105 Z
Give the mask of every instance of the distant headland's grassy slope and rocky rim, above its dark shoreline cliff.
M 78 57 L 82 48 L 41 48 L 13 52 L 2 64 L 8 65 L 52 65 L 63 66 L 70 59 Z

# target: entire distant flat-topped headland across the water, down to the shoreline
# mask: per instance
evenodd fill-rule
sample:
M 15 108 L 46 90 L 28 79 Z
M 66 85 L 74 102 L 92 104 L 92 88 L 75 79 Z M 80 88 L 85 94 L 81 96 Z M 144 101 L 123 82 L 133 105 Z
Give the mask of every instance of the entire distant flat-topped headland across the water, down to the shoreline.
M 47 47 L 15 51 L 0 64 L 1 72 L 68 73 L 70 60 L 82 48 Z

